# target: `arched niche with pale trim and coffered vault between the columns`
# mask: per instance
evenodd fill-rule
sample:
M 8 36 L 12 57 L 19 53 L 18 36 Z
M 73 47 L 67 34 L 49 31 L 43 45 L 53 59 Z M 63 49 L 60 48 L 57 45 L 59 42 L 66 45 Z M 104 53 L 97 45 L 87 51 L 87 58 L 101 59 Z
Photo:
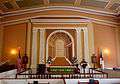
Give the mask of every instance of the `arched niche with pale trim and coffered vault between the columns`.
M 46 60 L 52 52 L 54 52 L 51 54 L 53 60 L 55 60 L 56 57 L 65 57 L 66 60 L 70 61 L 70 59 L 74 57 L 74 39 L 72 35 L 65 30 L 53 31 L 47 38 Z M 72 55 L 68 56 L 67 52 L 71 53 Z

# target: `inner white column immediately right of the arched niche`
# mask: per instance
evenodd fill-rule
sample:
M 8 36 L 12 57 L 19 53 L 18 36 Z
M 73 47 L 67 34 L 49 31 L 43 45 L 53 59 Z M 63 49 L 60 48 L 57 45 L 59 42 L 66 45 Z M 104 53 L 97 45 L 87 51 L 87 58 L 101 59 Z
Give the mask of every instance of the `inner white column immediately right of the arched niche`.
M 77 37 L 77 60 L 78 63 L 81 62 L 82 60 L 82 43 L 81 43 L 81 29 L 80 28 L 76 28 L 76 37 Z

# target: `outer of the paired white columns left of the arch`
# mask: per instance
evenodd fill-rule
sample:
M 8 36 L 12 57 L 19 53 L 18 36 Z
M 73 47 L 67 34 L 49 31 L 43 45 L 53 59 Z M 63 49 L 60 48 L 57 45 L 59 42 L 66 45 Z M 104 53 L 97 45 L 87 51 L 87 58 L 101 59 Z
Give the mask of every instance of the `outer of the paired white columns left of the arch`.
M 33 29 L 33 37 L 32 37 L 32 62 L 31 67 L 37 67 L 37 29 Z

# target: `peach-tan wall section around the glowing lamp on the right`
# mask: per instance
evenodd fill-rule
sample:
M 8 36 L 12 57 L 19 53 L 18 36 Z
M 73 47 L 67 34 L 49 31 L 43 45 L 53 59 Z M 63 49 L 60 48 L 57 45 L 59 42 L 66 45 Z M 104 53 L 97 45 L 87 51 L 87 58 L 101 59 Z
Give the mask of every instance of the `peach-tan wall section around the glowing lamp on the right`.
M 110 51 L 109 55 L 103 53 L 105 67 L 113 67 L 117 65 L 117 45 L 116 45 L 116 30 L 113 27 L 93 24 L 95 52 L 98 54 L 98 48 L 107 48 Z

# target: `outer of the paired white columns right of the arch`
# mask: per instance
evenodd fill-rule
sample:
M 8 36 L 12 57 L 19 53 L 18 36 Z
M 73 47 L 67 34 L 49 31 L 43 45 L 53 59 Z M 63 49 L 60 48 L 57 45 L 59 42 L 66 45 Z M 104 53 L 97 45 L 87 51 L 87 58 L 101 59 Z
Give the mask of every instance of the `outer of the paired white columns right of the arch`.
M 88 29 L 83 28 L 84 30 L 84 56 L 85 60 L 90 64 L 91 58 L 89 57 L 89 45 L 88 45 Z

